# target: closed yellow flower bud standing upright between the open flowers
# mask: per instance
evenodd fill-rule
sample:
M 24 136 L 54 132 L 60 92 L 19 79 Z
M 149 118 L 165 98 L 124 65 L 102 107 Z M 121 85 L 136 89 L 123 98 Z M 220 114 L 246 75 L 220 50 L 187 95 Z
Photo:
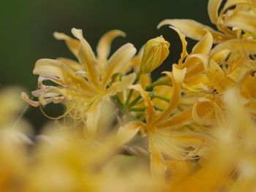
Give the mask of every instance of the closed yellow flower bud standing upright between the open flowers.
M 148 40 L 144 47 L 140 73 L 147 74 L 156 69 L 169 55 L 170 43 L 160 36 Z

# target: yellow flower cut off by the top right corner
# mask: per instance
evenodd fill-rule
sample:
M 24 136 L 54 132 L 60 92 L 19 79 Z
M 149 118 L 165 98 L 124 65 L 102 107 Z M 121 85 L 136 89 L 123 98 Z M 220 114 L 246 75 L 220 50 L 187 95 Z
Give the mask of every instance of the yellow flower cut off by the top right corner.
M 211 27 L 188 19 L 167 19 L 159 23 L 159 26 L 171 25 L 179 28 L 183 34 L 192 39 L 199 40 L 205 34 L 205 29 L 214 37 L 214 43 L 225 42 L 236 37 L 255 37 L 256 15 L 255 1 L 229 0 L 226 1 L 219 12 L 222 0 L 208 1 L 208 15 L 211 23 L 214 23 L 219 31 Z M 235 7 L 235 9 L 233 9 Z M 233 28 L 233 30 L 230 29 Z M 245 34 L 242 33 L 245 32 Z

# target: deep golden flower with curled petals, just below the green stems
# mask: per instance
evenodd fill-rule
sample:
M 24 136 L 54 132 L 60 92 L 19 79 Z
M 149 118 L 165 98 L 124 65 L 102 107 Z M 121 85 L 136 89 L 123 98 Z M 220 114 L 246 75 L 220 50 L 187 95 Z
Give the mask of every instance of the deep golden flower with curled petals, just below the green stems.
M 173 74 L 167 73 L 173 79 Z M 170 116 L 170 112 L 176 109 L 181 99 L 181 88 L 173 80 L 173 94 L 165 111 L 156 113 L 153 104 L 146 91 L 140 85 L 131 85 L 130 88 L 138 91 L 146 105 L 146 123 L 133 120 L 118 130 L 118 138 L 121 143 L 126 143 L 140 131 L 143 136 L 148 135 L 148 150 L 151 153 L 151 172 L 156 178 L 165 177 L 165 160 L 162 155 L 169 158 L 184 160 L 198 155 L 200 147 L 203 147 L 206 138 L 201 134 L 191 131 L 176 131 L 175 129 L 192 123 L 192 109 L 189 108 L 176 115 Z M 187 150 L 187 147 L 192 147 Z

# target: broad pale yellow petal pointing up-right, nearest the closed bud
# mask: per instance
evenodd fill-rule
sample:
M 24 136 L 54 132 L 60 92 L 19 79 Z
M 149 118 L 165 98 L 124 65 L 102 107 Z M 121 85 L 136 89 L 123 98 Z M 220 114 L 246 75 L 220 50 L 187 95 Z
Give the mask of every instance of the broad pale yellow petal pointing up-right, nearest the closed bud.
M 110 82 L 114 73 L 121 71 L 126 64 L 135 55 L 136 49 L 132 44 L 127 43 L 120 47 L 108 60 L 105 65 L 105 73 L 103 74 L 102 85 L 105 86 Z

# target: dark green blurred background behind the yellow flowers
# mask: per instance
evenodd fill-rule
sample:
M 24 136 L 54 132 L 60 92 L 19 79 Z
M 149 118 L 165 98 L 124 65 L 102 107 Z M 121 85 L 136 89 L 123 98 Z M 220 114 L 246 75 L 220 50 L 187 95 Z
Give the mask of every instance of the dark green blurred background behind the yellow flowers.
M 27 91 L 37 88 L 37 76 L 32 74 L 39 58 L 73 58 L 64 42 L 53 39 L 53 31 L 71 35 L 72 27 L 82 28 L 84 37 L 95 50 L 99 37 L 110 29 L 120 29 L 127 38 L 118 38 L 113 50 L 131 42 L 139 50 L 150 38 L 162 34 L 170 42 L 170 55 L 160 72 L 170 69 L 181 53 L 177 34 L 169 28 L 157 30 L 166 18 L 190 18 L 211 25 L 207 0 L 1 0 L 0 5 L 0 84 L 21 85 Z M 195 45 L 187 39 L 188 52 Z M 55 107 L 53 107 L 55 108 Z M 58 110 L 50 110 L 58 115 Z M 37 108 L 25 114 L 39 128 L 46 118 Z

